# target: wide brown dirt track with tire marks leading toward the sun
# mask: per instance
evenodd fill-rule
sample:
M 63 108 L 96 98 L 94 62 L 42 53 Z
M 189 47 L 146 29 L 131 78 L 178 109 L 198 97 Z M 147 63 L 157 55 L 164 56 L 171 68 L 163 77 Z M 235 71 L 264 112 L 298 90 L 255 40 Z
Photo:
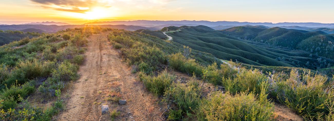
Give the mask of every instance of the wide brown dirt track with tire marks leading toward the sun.
M 73 84 L 67 106 L 56 120 L 59 121 L 99 121 L 111 120 L 110 114 L 101 114 L 101 106 L 108 104 L 110 111 L 120 111 L 116 120 L 161 120 L 164 109 L 158 105 L 158 98 L 148 93 L 143 85 L 136 81 L 128 66 L 111 49 L 107 34 L 91 35 L 88 40 L 86 60 L 80 66 L 80 78 Z M 120 90 L 126 105 L 119 105 L 106 99 L 115 89 Z

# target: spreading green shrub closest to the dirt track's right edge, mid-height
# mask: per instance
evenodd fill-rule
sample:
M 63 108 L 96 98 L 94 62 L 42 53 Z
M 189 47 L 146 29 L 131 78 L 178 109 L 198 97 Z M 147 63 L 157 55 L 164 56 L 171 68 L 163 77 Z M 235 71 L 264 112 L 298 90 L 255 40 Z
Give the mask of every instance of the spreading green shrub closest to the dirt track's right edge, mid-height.
M 160 96 L 171 86 L 172 82 L 175 80 L 175 76 L 168 74 L 167 71 L 163 71 L 157 77 L 140 74 L 140 80 L 143 82 L 147 90 Z

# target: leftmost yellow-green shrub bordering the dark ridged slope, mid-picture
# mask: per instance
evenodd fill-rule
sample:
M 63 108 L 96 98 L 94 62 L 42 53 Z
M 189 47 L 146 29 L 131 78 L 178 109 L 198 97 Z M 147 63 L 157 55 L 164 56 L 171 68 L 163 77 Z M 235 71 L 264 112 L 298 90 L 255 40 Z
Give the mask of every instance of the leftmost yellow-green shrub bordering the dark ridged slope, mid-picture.
M 169 55 L 169 66 L 184 73 L 200 76 L 204 67 L 195 62 L 195 59 L 187 59 L 182 53 Z

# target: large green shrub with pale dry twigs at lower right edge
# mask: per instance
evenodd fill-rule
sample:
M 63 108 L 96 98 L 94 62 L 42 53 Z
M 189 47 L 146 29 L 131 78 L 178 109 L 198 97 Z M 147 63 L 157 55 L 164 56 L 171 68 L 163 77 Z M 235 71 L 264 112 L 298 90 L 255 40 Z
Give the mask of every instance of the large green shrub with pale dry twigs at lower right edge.
M 299 73 L 297 70 L 292 70 L 288 78 L 284 76 L 282 74 L 269 76 L 271 95 L 274 98 L 307 120 L 333 115 L 334 91 L 332 86 L 325 83 L 327 77 L 310 71 Z

